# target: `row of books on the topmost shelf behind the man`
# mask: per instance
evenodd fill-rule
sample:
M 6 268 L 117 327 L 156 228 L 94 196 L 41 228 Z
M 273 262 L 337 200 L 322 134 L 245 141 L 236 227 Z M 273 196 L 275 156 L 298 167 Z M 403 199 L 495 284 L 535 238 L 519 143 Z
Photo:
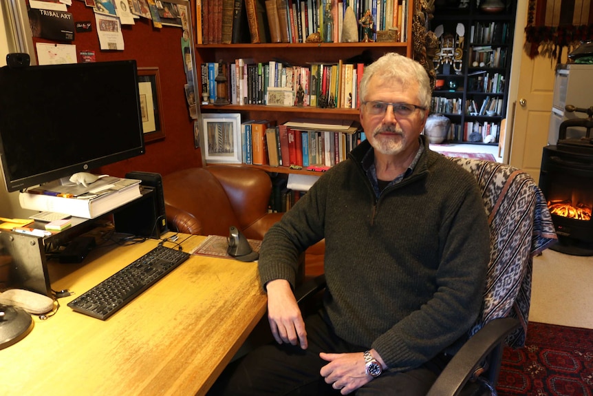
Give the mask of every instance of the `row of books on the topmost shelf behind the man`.
M 304 43 L 325 37 L 325 10 L 331 10 L 332 42 L 341 42 L 343 19 L 352 7 L 356 21 L 367 10 L 377 30 L 396 30 L 405 41 L 407 0 L 197 0 L 197 44 Z M 376 37 L 373 37 L 375 39 Z

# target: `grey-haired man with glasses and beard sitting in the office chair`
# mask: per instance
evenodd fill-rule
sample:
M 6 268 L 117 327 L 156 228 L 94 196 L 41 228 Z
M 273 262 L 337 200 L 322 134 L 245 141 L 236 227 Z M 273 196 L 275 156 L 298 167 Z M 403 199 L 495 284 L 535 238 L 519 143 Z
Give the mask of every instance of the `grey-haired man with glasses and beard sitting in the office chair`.
M 420 136 L 431 102 L 420 64 L 382 56 L 360 99 L 367 140 L 261 245 L 277 344 L 249 353 L 217 395 L 426 395 L 467 338 L 490 251 L 475 179 Z M 323 307 L 303 319 L 292 294 L 298 258 L 322 238 Z

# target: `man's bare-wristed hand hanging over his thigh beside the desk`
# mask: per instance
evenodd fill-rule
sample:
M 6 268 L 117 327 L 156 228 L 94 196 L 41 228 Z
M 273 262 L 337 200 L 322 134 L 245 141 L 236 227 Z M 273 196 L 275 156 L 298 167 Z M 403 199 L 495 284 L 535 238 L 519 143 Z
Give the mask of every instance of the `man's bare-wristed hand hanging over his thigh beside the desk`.
M 277 279 L 266 284 L 268 291 L 268 322 L 278 344 L 290 343 L 307 349 L 307 332 L 301 309 L 294 298 L 290 283 Z

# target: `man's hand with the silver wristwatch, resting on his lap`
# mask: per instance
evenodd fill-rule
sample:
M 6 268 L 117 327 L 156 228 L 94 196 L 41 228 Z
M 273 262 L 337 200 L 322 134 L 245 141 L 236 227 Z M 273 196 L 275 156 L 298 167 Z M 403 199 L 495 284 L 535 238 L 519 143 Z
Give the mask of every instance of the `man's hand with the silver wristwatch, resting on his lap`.
M 374 349 L 372 350 L 374 351 Z M 385 368 L 385 364 L 374 351 L 373 355 Z M 320 353 L 321 359 L 330 362 L 321 368 L 319 372 L 325 377 L 326 384 L 332 384 L 332 388 L 340 389 L 342 395 L 348 395 L 364 384 L 371 382 L 373 377 L 366 373 L 365 356 L 363 352 L 356 353 Z

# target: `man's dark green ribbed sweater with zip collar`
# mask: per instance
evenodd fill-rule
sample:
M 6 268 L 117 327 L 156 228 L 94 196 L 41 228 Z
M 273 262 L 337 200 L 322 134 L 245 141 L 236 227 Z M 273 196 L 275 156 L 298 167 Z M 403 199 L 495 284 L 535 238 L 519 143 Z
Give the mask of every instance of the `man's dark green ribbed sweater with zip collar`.
M 396 371 L 466 339 L 490 252 L 475 178 L 422 141 L 413 172 L 379 198 L 360 165 L 371 147 L 358 145 L 270 228 L 259 258 L 263 285 L 294 286 L 299 254 L 325 238 L 324 306 L 336 334 Z

